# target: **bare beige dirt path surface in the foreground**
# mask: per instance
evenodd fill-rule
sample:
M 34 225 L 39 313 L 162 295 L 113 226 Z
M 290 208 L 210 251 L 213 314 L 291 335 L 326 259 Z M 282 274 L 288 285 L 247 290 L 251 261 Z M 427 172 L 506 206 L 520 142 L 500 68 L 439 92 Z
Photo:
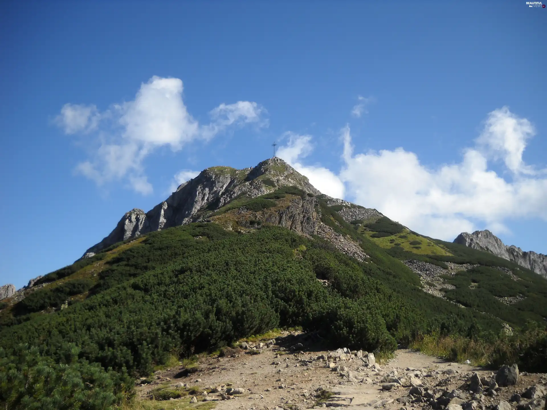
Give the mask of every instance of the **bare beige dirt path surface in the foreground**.
M 485 408 L 498 404 L 502 399 L 509 401 L 515 392 L 522 393 L 536 383 L 544 385 L 547 380 L 544 374 L 521 374 L 515 386 L 498 389 L 493 396 L 473 396 L 473 393 L 465 393 L 465 386 L 462 386 L 472 376 L 472 372 L 477 372 L 485 379 L 491 379 L 494 373 L 410 350 L 397 350 L 392 360 L 380 366 L 368 366 L 356 353 L 351 354 L 349 351 L 341 357 L 334 357 L 340 356 L 340 353 L 313 348 L 302 352 L 300 349 L 304 349 L 303 346 L 294 347 L 298 338 L 298 335 L 278 338 L 275 345 L 259 349 L 259 354 L 252 349 L 242 350 L 231 357 L 201 359 L 201 370 L 187 377 L 176 378 L 182 367 L 156 372 L 155 383 L 138 386 L 137 390 L 142 397 L 146 397 L 162 383 L 185 390 L 193 386 L 199 386 L 200 391 L 213 389 L 207 395 L 196 395 L 196 400 L 214 401 L 218 410 L 296 410 L 313 407 L 390 409 L 427 406 L 425 397 L 420 401 L 420 397 L 409 396 L 411 377 L 414 377 L 413 381 L 420 382 L 422 388 L 435 399 L 460 388 L 456 391 L 463 393 L 458 397 L 470 402 L 475 400 L 479 407 Z M 329 367 L 329 364 L 335 368 Z M 394 380 L 398 380 L 396 385 L 385 390 L 383 386 Z M 220 391 L 214 392 L 217 386 Z M 228 390 L 224 390 L 226 388 Z M 242 393 L 234 394 L 234 391 L 230 391 L 235 388 L 242 389 Z M 321 390 L 322 396 L 318 397 Z M 222 400 L 222 396 L 230 400 Z M 185 396 L 176 401 L 188 402 L 190 397 Z M 464 406 L 463 403 L 460 405 Z M 513 405 L 516 406 L 516 403 Z M 452 410 L 461 410 L 461 406 Z M 465 406 L 463 410 L 467 410 Z

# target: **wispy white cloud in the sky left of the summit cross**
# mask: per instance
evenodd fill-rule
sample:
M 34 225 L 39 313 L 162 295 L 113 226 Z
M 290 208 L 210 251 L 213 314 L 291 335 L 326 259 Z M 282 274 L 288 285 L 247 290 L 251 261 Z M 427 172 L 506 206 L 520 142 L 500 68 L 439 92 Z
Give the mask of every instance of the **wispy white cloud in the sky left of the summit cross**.
M 255 102 L 220 104 L 211 112 L 210 124 L 200 125 L 183 101 L 178 78 L 152 77 L 141 84 L 135 99 L 114 104 L 103 113 L 95 106 L 65 104 L 56 118 L 67 134 L 95 132 L 95 148 L 76 171 L 98 185 L 126 180 L 141 194 L 152 185 L 144 175 L 143 161 L 159 147 L 178 151 L 195 140 L 208 140 L 232 125 L 266 126 L 265 110 Z

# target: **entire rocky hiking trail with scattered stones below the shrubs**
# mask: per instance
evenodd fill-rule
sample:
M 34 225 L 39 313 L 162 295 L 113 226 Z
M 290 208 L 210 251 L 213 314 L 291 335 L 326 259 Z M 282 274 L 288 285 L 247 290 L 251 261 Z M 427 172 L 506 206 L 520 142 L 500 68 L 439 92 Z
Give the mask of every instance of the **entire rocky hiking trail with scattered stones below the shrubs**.
M 516 365 L 492 372 L 409 349 L 399 349 L 379 364 L 374 354 L 321 350 L 314 348 L 316 342 L 312 335 L 298 332 L 243 342 L 217 357 L 202 357 L 192 367 L 157 371 L 137 382 L 136 390 L 142 399 L 161 388 L 179 392 L 177 399 L 156 401 L 155 409 L 166 410 L 204 404 L 219 410 L 545 407 L 547 374 L 519 374 Z

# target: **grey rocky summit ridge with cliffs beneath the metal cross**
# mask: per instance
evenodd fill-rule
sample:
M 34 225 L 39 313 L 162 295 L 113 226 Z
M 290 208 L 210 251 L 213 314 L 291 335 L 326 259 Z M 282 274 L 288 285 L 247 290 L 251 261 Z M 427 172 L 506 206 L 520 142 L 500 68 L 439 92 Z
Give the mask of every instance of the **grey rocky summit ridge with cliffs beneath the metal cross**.
M 142 209 L 127 212 L 110 235 L 86 250 L 84 255 L 97 253 L 114 243 L 151 231 L 198 221 L 207 211 L 216 210 L 236 197 L 245 195 L 252 198 L 275 191 L 282 186 L 297 186 L 310 194 L 321 194 L 304 175 L 277 157 L 260 162 L 254 168 L 207 168 L 196 178 L 179 186 L 167 200 L 148 212 Z M 289 221 L 290 224 L 294 224 L 294 217 L 290 215 L 293 211 L 287 212 L 288 214 L 282 216 L 280 221 L 282 226 L 289 224 Z M 304 213 L 309 214 L 306 210 Z M 300 228 L 303 232 L 313 231 L 312 227 L 306 226 L 307 222 L 299 223 L 304 224 Z M 296 225 L 294 226 L 296 229 Z

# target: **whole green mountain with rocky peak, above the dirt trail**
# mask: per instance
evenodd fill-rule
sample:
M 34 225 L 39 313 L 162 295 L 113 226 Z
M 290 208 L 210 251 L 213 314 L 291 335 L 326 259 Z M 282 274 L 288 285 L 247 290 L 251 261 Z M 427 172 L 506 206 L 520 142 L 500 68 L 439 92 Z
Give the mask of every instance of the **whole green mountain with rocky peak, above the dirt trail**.
M 0 302 L 9 408 L 25 408 L 29 391 L 53 400 L 55 383 L 74 401 L 66 408 L 108 408 L 173 355 L 275 327 L 380 355 L 421 335 L 451 336 L 469 351 L 492 346 L 493 365 L 547 363 L 546 280 L 322 195 L 277 158 L 206 169 L 31 282 Z M 28 376 L 44 368 L 49 381 Z

